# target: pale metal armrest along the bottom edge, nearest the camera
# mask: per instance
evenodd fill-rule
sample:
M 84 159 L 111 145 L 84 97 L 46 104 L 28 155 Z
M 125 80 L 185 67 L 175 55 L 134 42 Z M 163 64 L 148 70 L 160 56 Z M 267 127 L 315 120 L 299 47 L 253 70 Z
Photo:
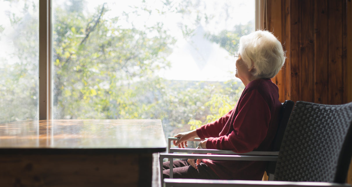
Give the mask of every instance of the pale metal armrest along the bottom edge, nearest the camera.
M 206 180 L 206 179 L 164 179 L 165 187 L 351 187 L 349 184 L 329 182 L 287 182 L 287 181 L 243 181 L 243 180 Z

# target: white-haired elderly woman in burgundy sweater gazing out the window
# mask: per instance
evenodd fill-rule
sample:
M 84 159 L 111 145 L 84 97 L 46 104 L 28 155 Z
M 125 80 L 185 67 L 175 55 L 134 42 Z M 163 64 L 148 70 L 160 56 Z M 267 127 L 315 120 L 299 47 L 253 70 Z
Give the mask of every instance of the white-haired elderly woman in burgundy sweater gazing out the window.
M 256 31 L 240 38 L 236 74 L 243 90 L 235 107 L 220 119 L 196 130 L 178 133 L 174 142 L 187 147 L 187 141 L 199 137 L 207 140 L 198 149 L 232 150 L 238 153 L 270 151 L 278 126 L 278 87 L 270 80 L 285 61 L 281 43 L 269 31 Z M 169 162 L 163 163 L 168 178 Z M 179 160 L 174 161 L 174 178 L 261 180 L 265 162 Z

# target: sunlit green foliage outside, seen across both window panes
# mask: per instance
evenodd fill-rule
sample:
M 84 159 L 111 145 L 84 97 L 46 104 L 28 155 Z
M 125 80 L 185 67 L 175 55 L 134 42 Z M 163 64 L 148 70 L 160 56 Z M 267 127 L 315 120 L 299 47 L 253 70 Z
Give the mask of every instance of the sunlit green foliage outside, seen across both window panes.
M 113 18 L 107 16 L 112 10 L 106 4 L 89 13 L 84 12 L 84 1 L 69 2 L 56 7 L 53 14 L 54 118 L 162 119 L 166 136 L 171 136 L 214 121 L 235 106 L 243 90 L 235 80 L 171 81 L 159 77 L 158 71 L 170 67 L 167 57 L 176 38 L 161 21 L 142 26 L 133 23 L 133 15 L 155 11 L 162 15 L 195 14 L 192 24 L 179 25 L 183 37 L 188 38 L 193 35 L 194 25 L 212 19 L 201 11 L 194 12 L 194 7 L 200 6 L 197 2 L 176 4 L 166 0 L 156 10 L 144 4 Z M 12 14 L 9 18 L 13 24 L 23 20 Z M 23 37 L 14 40 L 18 48 L 14 56 L 19 62 L 5 66 L 6 72 L 0 69 L 0 75 L 6 77 L 0 81 L 0 105 L 16 109 L 4 114 L 1 122 L 37 116 L 38 79 L 30 73 L 38 69 L 33 65 L 38 59 L 38 43 L 33 42 L 37 34 L 32 32 L 38 28 L 38 20 L 31 21 L 21 32 Z M 125 22 L 131 24 L 120 24 Z M 240 36 L 239 30 L 207 35 L 230 53 L 236 51 Z

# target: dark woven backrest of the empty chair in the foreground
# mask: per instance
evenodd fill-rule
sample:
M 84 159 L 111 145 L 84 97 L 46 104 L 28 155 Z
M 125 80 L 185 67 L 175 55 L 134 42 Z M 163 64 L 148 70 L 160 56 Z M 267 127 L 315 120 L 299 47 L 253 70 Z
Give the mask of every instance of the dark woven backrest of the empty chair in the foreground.
M 297 101 L 286 127 L 274 180 L 344 183 L 352 155 L 352 102 Z

